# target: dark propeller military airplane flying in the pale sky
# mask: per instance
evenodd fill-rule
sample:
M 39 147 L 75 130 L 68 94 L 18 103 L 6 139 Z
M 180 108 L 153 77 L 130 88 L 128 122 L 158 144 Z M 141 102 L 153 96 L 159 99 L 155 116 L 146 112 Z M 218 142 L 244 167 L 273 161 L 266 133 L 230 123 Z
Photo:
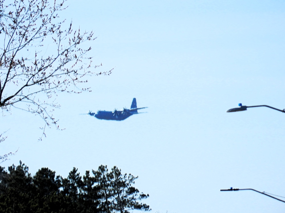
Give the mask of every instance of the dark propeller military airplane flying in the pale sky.
M 138 112 L 138 109 L 144 109 L 144 108 L 147 107 L 137 108 L 137 99 L 134 98 L 130 109 L 126 109 L 124 107 L 123 110 L 121 111 L 116 109 L 114 111 L 98 110 L 97 113 L 89 111 L 88 114 L 101 120 L 103 119 L 103 120 L 121 121 L 125 120 L 126 118 L 129 118 L 131 115 L 143 113 L 143 112 Z

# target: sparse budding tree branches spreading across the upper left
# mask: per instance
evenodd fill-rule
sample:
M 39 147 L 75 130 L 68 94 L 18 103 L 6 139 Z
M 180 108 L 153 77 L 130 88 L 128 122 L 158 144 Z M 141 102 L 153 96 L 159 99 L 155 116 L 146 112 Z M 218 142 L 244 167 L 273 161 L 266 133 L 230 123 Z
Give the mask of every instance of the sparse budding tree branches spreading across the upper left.
M 91 47 L 82 45 L 96 39 L 93 32 L 73 30 L 72 22 L 65 27 L 66 20 L 59 20 L 58 15 L 66 9 L 65 1 L 57 2 L 0 0 L 2 112 L 10 112 L 11 106 L 20 108 L 40 115 L 45 127 L 54 124 L 56 128 L 51 112 L 60 105 L 54 103 L 53 95 L 91 91 L 82 87 L 90 76 L 112 72 L 94 72 L 102 64 L 92 66 L 92 57 L 86 57 Z M 40 96 L 42 93 L 46 96 Z

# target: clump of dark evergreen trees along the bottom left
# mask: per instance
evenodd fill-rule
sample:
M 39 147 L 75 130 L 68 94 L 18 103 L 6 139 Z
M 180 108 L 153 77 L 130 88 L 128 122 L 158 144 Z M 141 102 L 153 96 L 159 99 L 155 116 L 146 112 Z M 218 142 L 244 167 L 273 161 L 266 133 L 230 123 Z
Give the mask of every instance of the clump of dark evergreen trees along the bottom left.
M 41 168 L 32 177 L 20 162 L 8 171 L 0 166 L 0 212 L 128 213 L 151 210 L 141 201 L 148 197 L 133 187 L 137 177 L 121 174 L 116 166 L 86 171 L 83 178 L 73 168 L 67 178 Z

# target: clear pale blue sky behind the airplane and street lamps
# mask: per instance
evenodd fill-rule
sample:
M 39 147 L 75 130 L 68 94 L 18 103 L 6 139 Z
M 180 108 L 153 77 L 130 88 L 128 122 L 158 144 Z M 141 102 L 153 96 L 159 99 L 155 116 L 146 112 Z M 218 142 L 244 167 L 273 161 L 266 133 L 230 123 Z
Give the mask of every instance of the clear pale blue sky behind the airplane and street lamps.
M 68 0 L 60 16 L 95 31 L 98 72 L 92 92 L 58 93 L 54 113 L 63 131 L 46 131 L 38 116 L 13 109 L 1 152 L 17 154 L 34 174 L 42 167 L 67 177 L 99 165 L 139 176 L 152 212 L 284 212 L 285 204 L 253 188 L 285 197 L 284 1 Z M 117 122 L 89 110 L 130 108 L 148 113 Z M 282 198 L 281 198 L 282 199 Z M 283 198 L 285 199 L 285 198 Z

